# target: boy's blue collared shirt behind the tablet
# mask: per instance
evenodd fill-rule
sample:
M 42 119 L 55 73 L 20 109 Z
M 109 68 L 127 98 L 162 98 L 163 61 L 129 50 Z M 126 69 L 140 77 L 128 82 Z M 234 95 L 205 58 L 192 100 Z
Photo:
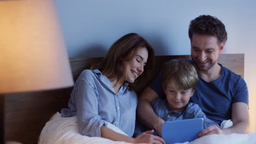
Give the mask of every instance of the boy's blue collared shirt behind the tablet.
M 188 103 L 185 106 L 185 109 L 181 112 L 175 112 L 172 111 L 172 109 L 167 105 L 166 99 L 156 98 L 151 103 L 152 108 L 156 115 L 158 115 L 160 118 L 162 118 L 164 121 L 175 121 L 175 120 L 181 120 L 181 119 L 190 119 L 190 118 L 203 118 L 203 128 L 210 127 L 213 124 L 216 124 L 218 127 L 219 125 L 217 123 L 214 123 L 210 119 L 208 119 L 200 109 L 200 107 L 197 104 Z M 135 133 L 133 136 L 135 136 L 138 133 L 143 133 L 144 131 L 151 130 L 150 128 L 145 127 L 142 124 L 136 124 L 135 127 Z M 154 131 L 154 135 L 158 135 L 157 131 Z

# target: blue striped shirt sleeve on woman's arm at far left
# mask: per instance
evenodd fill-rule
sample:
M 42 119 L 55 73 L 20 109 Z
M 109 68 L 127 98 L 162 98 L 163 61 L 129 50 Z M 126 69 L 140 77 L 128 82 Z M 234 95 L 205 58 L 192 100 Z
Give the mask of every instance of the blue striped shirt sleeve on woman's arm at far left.
M 98 115 L 98 98 L 95 88 L 83 79 L 75 83 L 72 94 L 77 108 L 79 133 L 86 136 L 101 136 L 105 123 Z

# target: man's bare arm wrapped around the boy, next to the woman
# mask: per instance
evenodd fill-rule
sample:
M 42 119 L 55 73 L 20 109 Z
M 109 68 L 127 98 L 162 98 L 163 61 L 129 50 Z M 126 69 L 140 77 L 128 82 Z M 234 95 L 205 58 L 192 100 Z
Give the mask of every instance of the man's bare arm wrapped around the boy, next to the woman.
M 158 98 L 158 94 L 153 89 L 150 87 L 144 89 L 138 99 L 137 118 L 139 122 L 147 127 L 158 131 L 158 134 L 161 136 L 162 124 L 165 123 L 165 121 L 155 114 L 150 105 L 155 98 Z

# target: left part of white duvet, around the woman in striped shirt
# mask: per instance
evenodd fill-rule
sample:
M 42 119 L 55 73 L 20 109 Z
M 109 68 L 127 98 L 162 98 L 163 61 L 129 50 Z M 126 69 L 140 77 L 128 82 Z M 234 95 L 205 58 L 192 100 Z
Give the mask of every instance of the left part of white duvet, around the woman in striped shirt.
M 106 127 L 126 135 L 122 130 L 108 123 Z M 47 122 L 39 136 L 38 144 L 130 144 L 123 141 L 112 141 L 103 137 L 88 137 L 79 134 L 77 117 L 61 117 L 57 112 Z

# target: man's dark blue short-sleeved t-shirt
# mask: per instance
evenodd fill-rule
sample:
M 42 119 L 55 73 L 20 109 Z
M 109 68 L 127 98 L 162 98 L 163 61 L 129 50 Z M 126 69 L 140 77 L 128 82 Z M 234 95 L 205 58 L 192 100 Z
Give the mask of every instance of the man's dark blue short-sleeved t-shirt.
M 192 61 L 190 61 L 193 63 Z M 206 82 L 199 75 L 191 103 L 199 105 L 206 116 L 214 122 L 220 123 L 226 119 L 231 119 L 231 105 L 237 102 L 248 105 L 248 89 L 245 80 L 240 75 L 222 67 L 222 76 L 219 79 Z M 152 88 L 158 95 L 165 95 L 161 85 L 162 74 L 151 83 Z

